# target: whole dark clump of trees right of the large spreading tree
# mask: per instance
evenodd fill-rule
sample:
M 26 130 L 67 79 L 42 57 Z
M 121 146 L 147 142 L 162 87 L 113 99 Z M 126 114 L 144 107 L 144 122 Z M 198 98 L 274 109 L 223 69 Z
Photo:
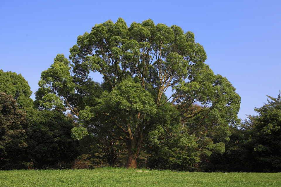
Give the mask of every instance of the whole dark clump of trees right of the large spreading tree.
M 281 95 L 268 98 L 268 104 L 255 108 L 258 115 L 229 127 L 225 153 L 212 155 L 207 170 L 281 172 Z

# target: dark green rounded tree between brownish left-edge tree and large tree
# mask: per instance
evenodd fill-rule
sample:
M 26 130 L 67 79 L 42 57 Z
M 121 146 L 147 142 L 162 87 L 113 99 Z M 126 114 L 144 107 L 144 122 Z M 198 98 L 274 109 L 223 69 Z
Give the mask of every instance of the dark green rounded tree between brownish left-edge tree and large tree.
M 70 166 L 78 156 L 78 145 L 71 138 L 73 127 L 73 120 L 62 112 L 36 112 L 30 121 L 32 134 L 26 148 L 34 168 L 59 168 L 60 164 Z

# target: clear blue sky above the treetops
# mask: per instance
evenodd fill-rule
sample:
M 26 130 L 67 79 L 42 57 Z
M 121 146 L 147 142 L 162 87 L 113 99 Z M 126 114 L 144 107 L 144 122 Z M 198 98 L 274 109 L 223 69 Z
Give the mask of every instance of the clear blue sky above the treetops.
M 35 93 L 56 54 L 68 57 L 78 35 L 119 17 L 128 27 L 150 18 L 193 32 L 207 53 L 205 63 L 241 96 L 242 120 L 281 90 L 280 0 L 0 0 L 0 69 L 20 73 Z

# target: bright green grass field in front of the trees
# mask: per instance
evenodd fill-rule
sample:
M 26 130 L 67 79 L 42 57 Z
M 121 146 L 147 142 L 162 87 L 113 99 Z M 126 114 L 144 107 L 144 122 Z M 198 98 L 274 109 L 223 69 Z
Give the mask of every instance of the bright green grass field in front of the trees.
M 0 171 L 0 186 L 281 186 L 281 173 L 202 173 L 124 168 Z M 149 172 L 145 172 L 149 171 Z

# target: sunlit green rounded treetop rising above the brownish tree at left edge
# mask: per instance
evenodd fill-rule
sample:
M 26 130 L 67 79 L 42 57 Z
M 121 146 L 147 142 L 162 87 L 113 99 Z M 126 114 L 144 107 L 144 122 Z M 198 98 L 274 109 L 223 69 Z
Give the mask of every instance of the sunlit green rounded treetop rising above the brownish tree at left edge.
M 0 70 L 0 91 L 12 95 L 21 109 L 31 108 L 32 99 L 30 98 L 32 91 L 28 82 L 15 72 L 3 72 Z

